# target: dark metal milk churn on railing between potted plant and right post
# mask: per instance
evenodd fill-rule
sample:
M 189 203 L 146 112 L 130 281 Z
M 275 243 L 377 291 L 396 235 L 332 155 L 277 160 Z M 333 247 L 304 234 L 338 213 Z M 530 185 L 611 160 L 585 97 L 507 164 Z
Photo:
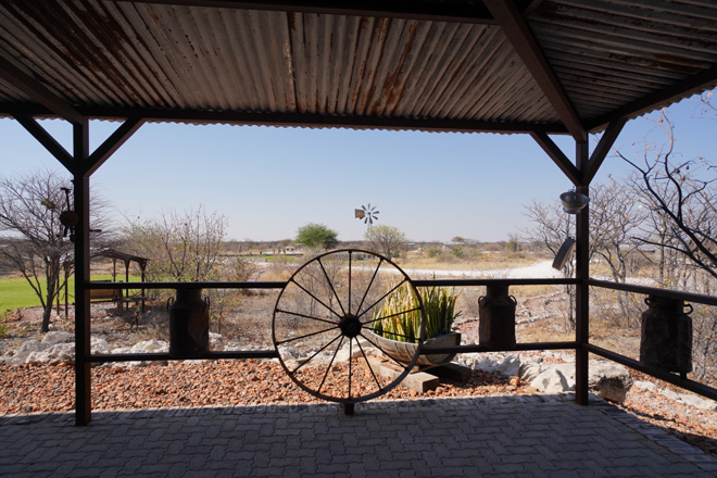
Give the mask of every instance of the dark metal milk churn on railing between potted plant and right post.
M 489 285 L 486 289 L 486 295 L 478 300 L 479 342 L 489 349 L 513 349 L 517 301 L 508 295 L 508 286 Z

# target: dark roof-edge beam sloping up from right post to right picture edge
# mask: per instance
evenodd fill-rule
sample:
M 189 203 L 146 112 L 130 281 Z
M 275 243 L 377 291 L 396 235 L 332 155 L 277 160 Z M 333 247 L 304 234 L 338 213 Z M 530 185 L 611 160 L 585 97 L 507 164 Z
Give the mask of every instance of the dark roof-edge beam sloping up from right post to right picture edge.
M 652 95 L 647 95 L 630 104 L 612 111 L 605 116 L 592 121 L 588 125 L 589 130 L 601 129 L 606 124 L 614 123 L 622 117 L 636 117 L 655 110 L 655 105 L 680 101 L 690 93 L 696 95 L 710 90 L 717 85 L 717 66 L 704 70 L 690 76 L 680 83 L 663 88 Z

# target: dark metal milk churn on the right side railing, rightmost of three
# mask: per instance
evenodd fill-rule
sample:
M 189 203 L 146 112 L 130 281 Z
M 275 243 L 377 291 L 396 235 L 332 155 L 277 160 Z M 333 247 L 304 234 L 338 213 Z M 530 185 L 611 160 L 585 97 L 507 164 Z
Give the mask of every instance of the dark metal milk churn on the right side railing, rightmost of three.
M 692 372 L 692 305 L 679 299 L 650 295 L 642 313 L 640 362 L 665 372 Z M 684 312 L 684 307 L 689 307 Z

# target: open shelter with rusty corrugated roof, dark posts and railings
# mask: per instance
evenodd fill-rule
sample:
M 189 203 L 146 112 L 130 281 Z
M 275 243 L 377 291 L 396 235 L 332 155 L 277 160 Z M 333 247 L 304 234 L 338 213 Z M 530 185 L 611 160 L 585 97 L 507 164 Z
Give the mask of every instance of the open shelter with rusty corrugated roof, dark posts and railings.
M 90 178 L 143 123 L 527 134 L 587 194 L 627 121 L 717 85 L 716 25 L 712 0 L 3 1 L 0 116 L 21 123 L 74 176 L 76 423 L 91 418 L 92 362 L 163 358 L 90 354 L 88 289 L 115 287 L 89 281 Z M 73 125 L 72 152 L 37 123 L 47 117 Z M 90 151 L 96 118 L 121 124 Z M 571 137 L 574 156 L 549 135 Z M 518 349 L 575 350 L 581 404 L 589 353 L 717 399 L 713 388 L 590 343 L 591 285 L 709 305 L 717 298 L 591 279 L 588 216 L 577 216 L 576 277 L 566 279 L 577 289 L 575 341 Z

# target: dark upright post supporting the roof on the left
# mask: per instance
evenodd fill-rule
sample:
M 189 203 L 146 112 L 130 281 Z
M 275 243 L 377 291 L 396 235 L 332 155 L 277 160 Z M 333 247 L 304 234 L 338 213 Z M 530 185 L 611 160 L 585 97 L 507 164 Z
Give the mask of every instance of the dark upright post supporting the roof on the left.
M 90 363 L 89 291 L 89 174 L 84 174 L 89 156 L 89 125 L 73 125 L 74 202 L 79 223 L 75 228 L 75 425 L 92 418 Z

